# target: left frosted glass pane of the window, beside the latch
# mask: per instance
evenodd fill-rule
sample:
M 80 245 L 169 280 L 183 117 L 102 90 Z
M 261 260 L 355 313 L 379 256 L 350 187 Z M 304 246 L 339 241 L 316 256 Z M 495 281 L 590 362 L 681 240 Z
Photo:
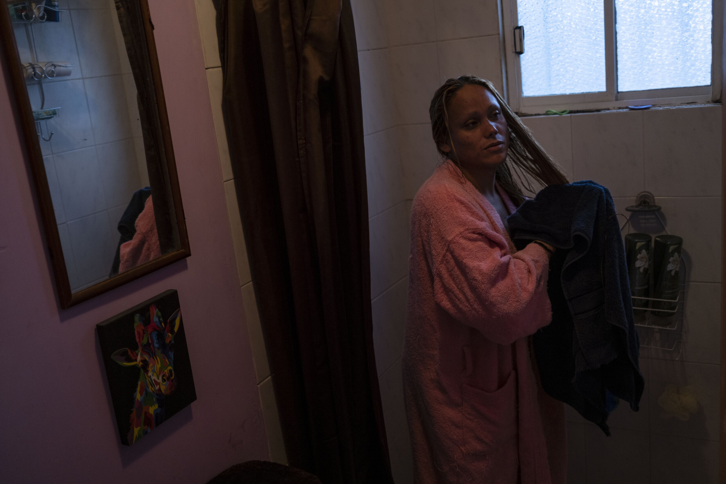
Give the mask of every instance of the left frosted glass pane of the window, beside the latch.
M 518 0 L 523 96 L 605 91 L 603 0 Z

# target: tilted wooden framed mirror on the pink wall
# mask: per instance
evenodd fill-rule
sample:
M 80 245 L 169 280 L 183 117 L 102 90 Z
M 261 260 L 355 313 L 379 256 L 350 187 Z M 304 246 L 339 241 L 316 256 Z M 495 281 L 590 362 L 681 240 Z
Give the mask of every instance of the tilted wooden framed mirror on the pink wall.
M 190 255 L 146 0 L 2 0 L 62 308 Z

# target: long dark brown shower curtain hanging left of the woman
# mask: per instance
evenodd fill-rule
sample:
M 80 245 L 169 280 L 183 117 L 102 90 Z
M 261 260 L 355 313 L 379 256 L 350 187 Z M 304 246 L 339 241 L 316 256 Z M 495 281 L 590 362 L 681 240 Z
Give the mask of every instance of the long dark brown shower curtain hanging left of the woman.
M 349 0 L 220 0 L 224 113 L 290 465 L 393 483 Z

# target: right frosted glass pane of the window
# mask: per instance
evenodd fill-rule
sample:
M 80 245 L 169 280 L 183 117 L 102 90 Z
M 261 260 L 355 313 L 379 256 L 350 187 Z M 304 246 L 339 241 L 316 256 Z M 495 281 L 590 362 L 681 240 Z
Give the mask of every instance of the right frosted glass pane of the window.
M 711 84 L 711 0 L 616 0 L 618 90 Z

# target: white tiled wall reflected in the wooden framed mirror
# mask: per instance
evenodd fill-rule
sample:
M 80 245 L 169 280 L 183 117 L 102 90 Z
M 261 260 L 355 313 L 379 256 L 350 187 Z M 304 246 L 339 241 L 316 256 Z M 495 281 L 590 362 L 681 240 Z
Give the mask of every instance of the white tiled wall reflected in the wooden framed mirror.
M 45 107 L 61 109 L 58 118 L 41 123 L 44 136 L 54 134 L 40 144 L 76 291 L 107 279 L 120 237 L 118 220 L 148 176 L 136 90 L 113 1 L 67 0 L 60 7 L 68 9 L 61 22 L 14 26 L 22 62 L 35 57 L 74 65 L 70 76 L 43 83 Z M 38 110 L 36 81 L 28 87 Z

